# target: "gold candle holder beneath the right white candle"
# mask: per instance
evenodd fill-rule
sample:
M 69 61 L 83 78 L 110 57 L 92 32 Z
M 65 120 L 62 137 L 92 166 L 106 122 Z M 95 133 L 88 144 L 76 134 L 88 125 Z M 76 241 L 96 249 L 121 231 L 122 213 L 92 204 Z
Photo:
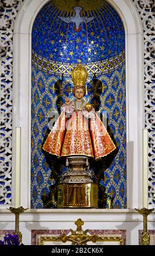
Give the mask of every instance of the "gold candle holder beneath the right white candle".
M 147 216 L 154 211 L 153 209 L 135 209 L 139 214 L 143 215 L 143 232 L 141 233 L 141 245 L 150 245 L 150 234 L 147 232 Z

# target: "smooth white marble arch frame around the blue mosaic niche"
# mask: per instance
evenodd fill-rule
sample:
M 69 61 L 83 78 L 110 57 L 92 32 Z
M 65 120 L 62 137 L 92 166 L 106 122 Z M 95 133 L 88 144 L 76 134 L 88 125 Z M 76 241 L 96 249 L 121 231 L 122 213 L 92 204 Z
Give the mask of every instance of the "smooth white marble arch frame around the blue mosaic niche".
M 31 133 L 31 31 L 38 12 L 49 0 L 25 0 L 14 27 L 13 70 L 13 145 L 15 127 L 22 129 L 21 205 L 30 208 L 30 133 Z M 127 107 L 127 208 L 142 206 L 142 137 L 144 116 L 143 28 L 132 0 L 107 0 L 118 11 L 125 27 L 126 107 Z M 14 146 L 13 146 L 14 147 Z M 133 154 L 134 153 L 134 154 Z M 12 170 L 15 175 L 15 150 Z M 15 177 L 13 175 L 13 179 Z M 15 198 L 16 184 L 13 183 Z M 63 212 L 63 209 L 56 209 Z M 37 210 L 36 210 L 37 211 Z M 41 212 L 40 210 L 38 210 Z M 53 211 L 52 209 L 50 210 Z M 70 209 L 66 209 L 65 212 Z M 72 209 L 74 212 L 74 209 Z M 95 210 L 104 212 L 107 210 Z M 115 210 L 113 210 L 115 212 Z M 44 210 L 42 210 L 44 212 Z M 77 210 L 76 210 L 77 212 Z M 80 210 L 79 212 L 86 212 Z M 89 212 L 89 210 L 88 210 Z M 111 210 L 112 212 L 112 210 Z M 118 212 L 118 210 L 117 210 Z M 119 212 L 128 212 L 120 209 Z

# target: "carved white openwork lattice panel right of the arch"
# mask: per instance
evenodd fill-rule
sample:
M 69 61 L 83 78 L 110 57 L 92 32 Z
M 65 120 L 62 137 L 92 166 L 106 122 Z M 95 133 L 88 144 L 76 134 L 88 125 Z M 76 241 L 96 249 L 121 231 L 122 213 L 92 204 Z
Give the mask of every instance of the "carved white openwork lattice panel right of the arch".
M 155 3 L 152 0 L 132 0 L 139 11 L 144 31 L 145 127 L 148 129 L 148 204 L 155 204 Z

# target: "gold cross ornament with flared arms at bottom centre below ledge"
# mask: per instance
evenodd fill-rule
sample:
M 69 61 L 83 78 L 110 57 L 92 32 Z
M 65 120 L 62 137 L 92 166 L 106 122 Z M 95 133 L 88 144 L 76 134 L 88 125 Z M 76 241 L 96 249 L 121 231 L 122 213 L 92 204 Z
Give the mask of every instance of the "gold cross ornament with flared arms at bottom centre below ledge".
M 87 235 L 89 229 L 86 229 L 85 231 L 82 230 L 82 225 L 84 224 L 83 221 L 81 221 L 81 218 L 79 218 L 77 221 L 75 221 L 75 225 L 77 225 L 77 229 L 74 231 L 73 229 L 70 229 L 72 235 L 66 235 L 62 234 L 60 237 L 61 241 L 65 243 L 66 241 L 72 242 L 72 245 L 87 245 L 88 241 L 96 242 L 98 240 L 97 235 Z

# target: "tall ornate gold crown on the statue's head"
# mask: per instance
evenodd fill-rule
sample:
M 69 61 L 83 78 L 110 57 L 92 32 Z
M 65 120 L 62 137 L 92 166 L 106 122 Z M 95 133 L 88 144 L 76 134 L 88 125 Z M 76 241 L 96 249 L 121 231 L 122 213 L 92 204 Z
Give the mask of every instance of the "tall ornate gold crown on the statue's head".
M 74 68 L 71 72 L 71 77 L 73 80 L 74 87 L 75 86 L 85 86 L 87 81 L 88 72 L 81 64 L 79 63 L 76 68 Z

